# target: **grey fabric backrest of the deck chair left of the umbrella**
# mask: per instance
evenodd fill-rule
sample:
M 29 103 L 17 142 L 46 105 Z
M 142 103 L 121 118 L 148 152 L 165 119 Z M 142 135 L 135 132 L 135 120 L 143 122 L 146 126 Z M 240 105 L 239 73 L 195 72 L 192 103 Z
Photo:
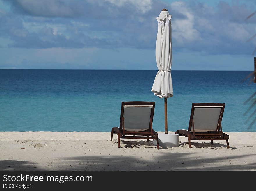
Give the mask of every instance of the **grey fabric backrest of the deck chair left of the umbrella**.
M 149 129 L 150 117 L 152 116 L 152 110 L 154 109 L 153 104 L 142 105 L 138 103 L 135 105 L 129 104 L 129 102 L 124 102 L 122 107 L 125 131 L 139 132 Z

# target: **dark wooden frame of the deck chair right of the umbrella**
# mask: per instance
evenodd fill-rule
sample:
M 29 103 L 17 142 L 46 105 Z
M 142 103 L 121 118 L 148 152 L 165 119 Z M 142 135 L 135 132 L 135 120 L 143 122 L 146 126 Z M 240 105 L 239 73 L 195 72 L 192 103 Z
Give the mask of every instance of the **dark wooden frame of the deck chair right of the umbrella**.
M 216 131 L 208 131 L 208 132 L 195 131 L 195 126 L 193 121 L 195 108 L 221 108 L 221 112 L 218 118 L 218 123 L 216 126 Z M 230 148 L 228 143 L 229 135 L 223 133 L 222 127 L 221 127 L 224 108 L 225 108 L 225 103 L 192 103 L 188 130 L 180 129 L 180 130 L 177 130 L 175 134 L 179 134 L 179 136 L 188 137 L 189 148 L 191 148 L 191 142 L 190 142 L 191 140 L 210 140 L 211 144 L 213 144 L 214 140 L 225 140 L 227 143 L 227 148 L 229 149 Z

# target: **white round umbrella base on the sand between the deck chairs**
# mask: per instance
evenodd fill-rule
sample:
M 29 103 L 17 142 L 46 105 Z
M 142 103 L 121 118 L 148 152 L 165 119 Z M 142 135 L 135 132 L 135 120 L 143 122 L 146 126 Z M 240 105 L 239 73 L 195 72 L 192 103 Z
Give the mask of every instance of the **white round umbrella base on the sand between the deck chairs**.
M 158 133 L 159 145 L 162 147 L 178 147 L 179 146 L 179 135 L 178 134 L 165 134 Z M 153 140 L 153 145 L 157 145 L 157 141 Z

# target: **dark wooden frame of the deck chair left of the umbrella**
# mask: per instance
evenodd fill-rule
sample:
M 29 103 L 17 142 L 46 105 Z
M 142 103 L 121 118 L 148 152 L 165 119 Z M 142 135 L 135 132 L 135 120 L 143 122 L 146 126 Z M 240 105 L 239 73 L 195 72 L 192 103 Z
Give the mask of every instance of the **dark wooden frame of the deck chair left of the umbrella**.
M 125 105 L 152 105 L 151 113 L 150 113 L 150 123 L 148 125 L 148 129 L 144 131 L 127 131 L 125 130 L 125 123 L 124 123 L 124 106 Z M 157 141 L 157 149 L 159 149 L 159 142 L 158 142 L 158 134 L 152 128 L 153 117 L 154 117 L 154 109 L 155 109 L 155 102 L 145 102 L 145 101 L 131 101 L 131 102 L 122 102 L 121 105 L 121 115 L 120 115 L 120 126 L 113 127 L 111 130 L 111 138 L 112 141 L 113 133 L 117 134 L 118 139 L 118 148 L 120 148 L 120 139 L 155 139 Z

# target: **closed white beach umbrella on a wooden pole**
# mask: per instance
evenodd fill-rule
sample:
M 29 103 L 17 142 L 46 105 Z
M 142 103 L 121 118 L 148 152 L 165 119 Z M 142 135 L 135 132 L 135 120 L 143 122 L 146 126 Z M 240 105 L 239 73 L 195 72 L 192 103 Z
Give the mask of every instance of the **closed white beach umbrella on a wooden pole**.
M 173 96 L 173 85 L 171 76 L 172 67 L 172 15 L 163 9 L 156 18 L 158 21 L 158 32 L 156 42 L 156 61 L 158 72 L 155 77 L 152 92 L 160 98 L 164 98 L 165 111 L 165 133 L 167 133 L 167 98 Z

